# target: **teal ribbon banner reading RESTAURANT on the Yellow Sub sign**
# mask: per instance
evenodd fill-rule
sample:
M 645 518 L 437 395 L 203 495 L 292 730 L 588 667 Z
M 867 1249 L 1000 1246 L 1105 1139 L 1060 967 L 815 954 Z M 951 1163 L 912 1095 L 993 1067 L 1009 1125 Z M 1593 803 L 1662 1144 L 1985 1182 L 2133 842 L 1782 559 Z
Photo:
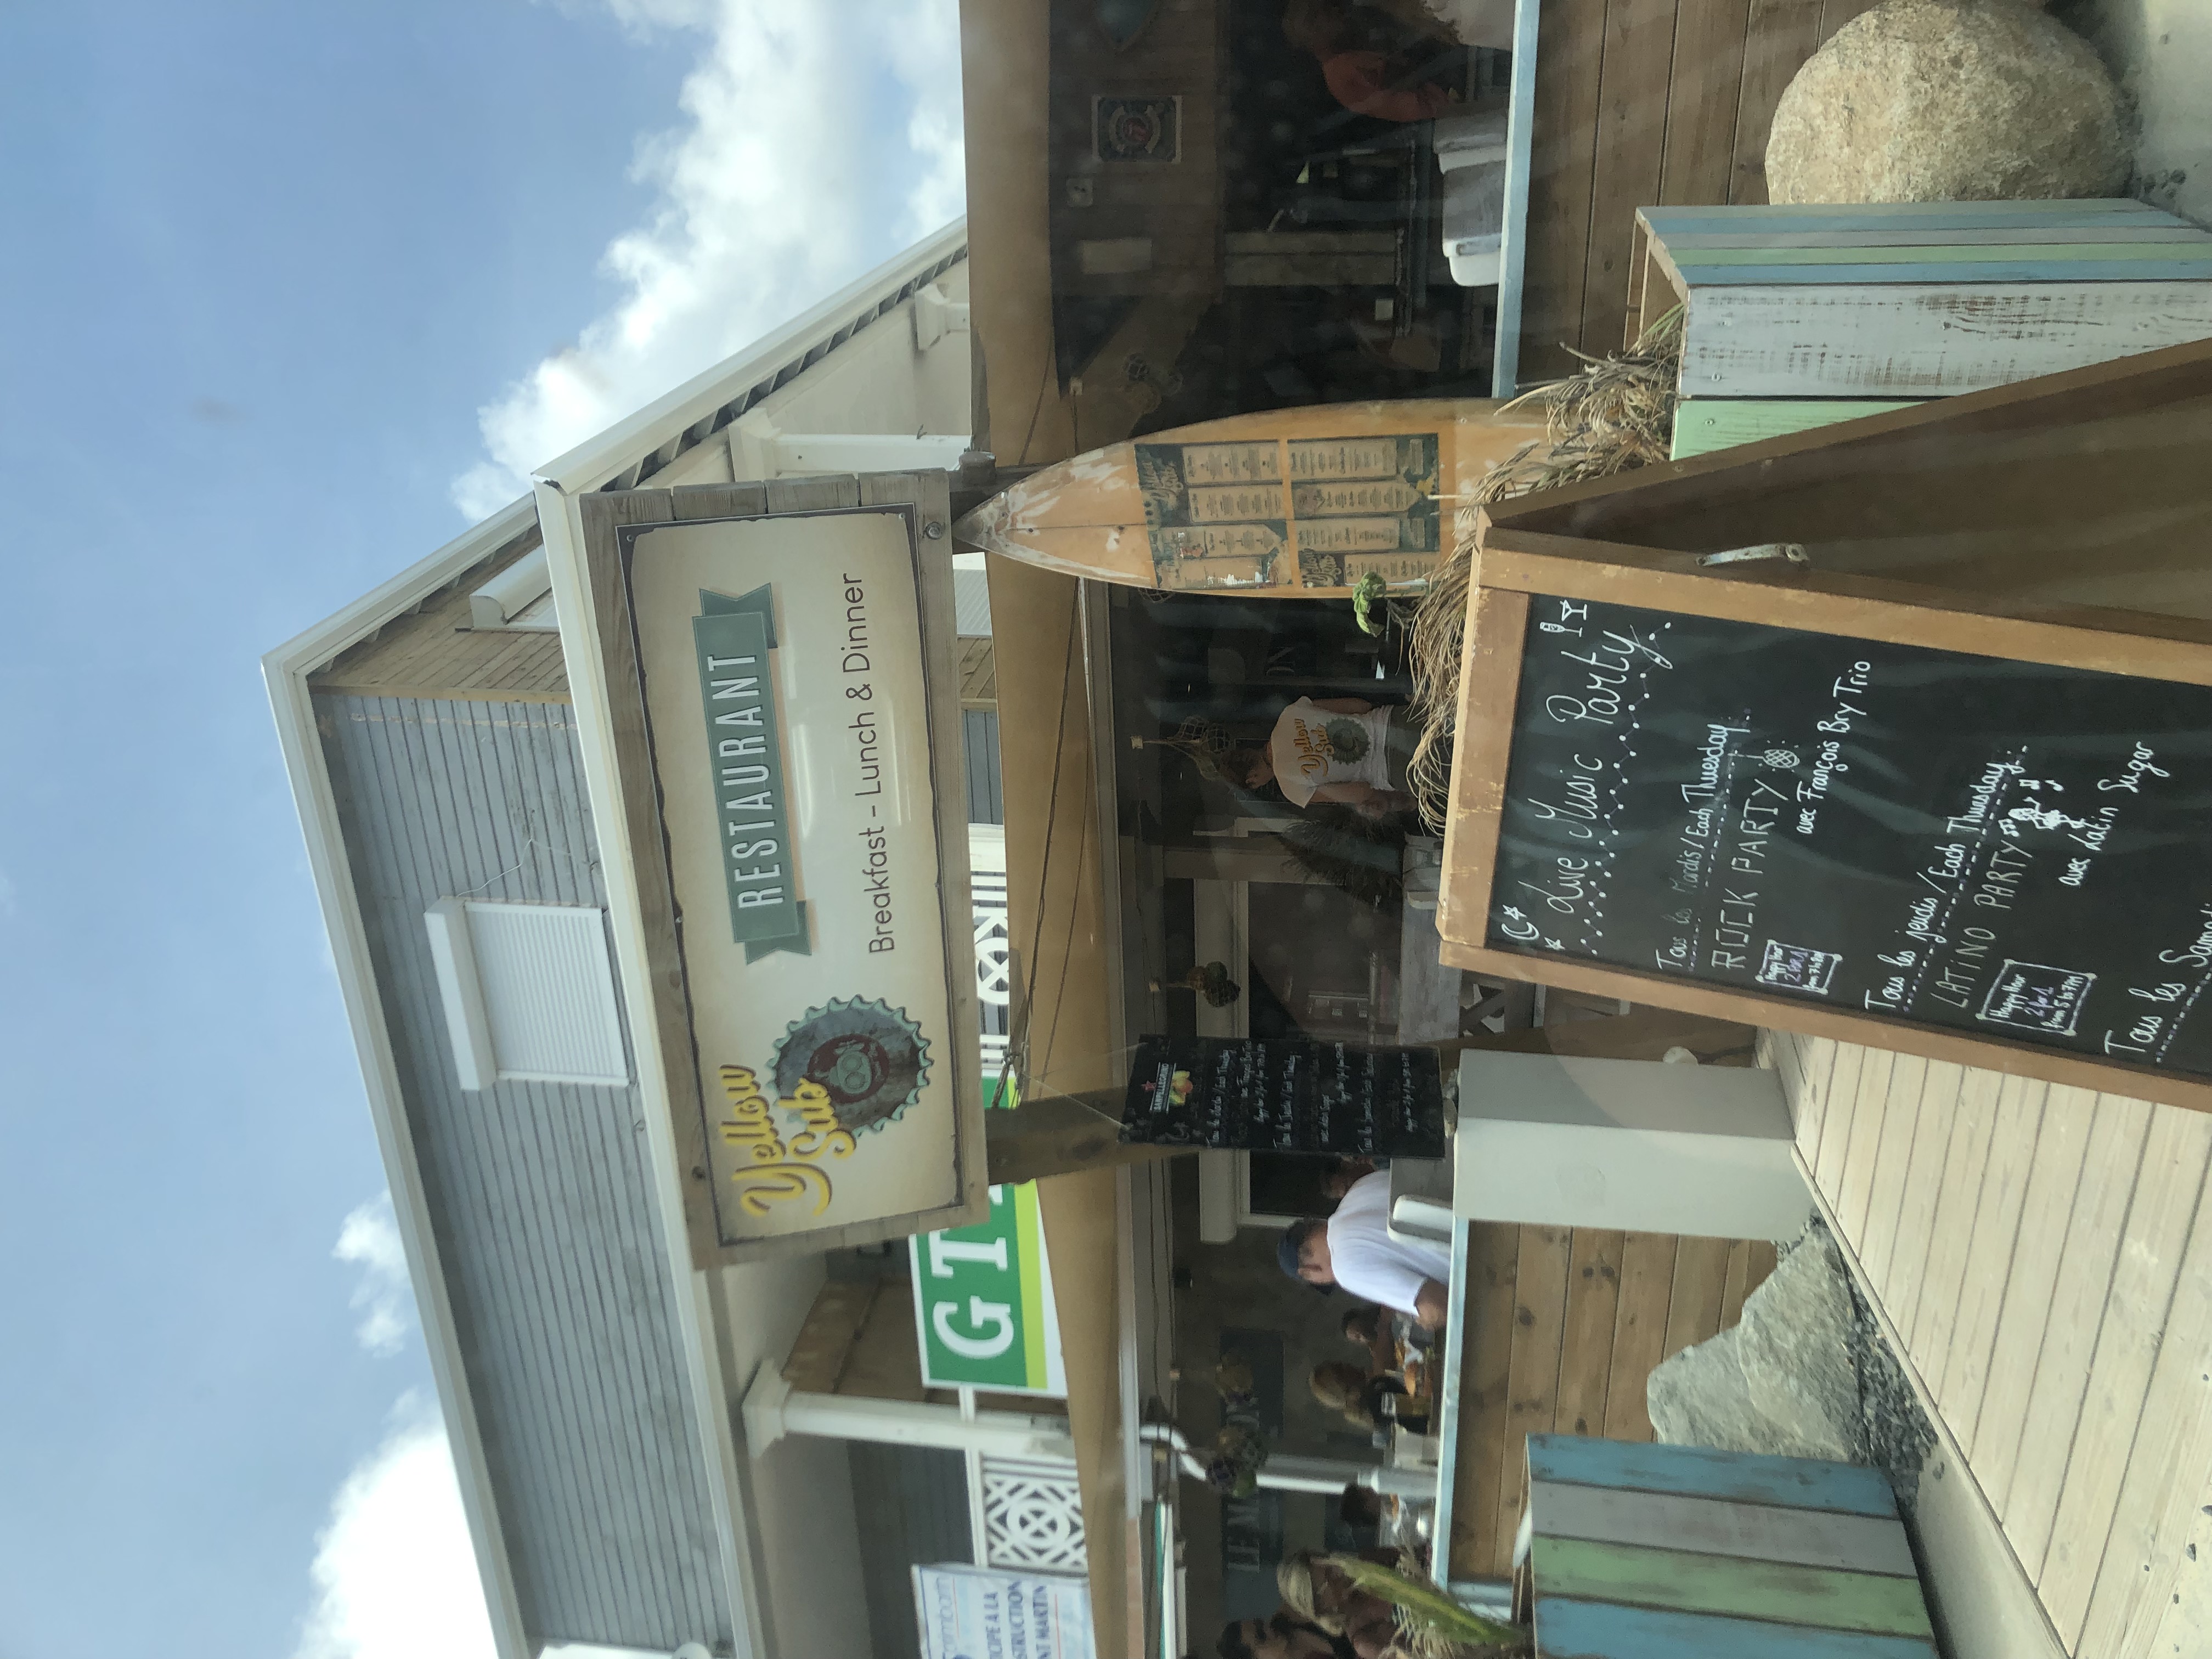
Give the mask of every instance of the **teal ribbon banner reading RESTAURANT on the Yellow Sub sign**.
M 692 617 L 730 938 L 745 947 L 748 962 L 772 951 L 812 956 L 768 666 L 776 648 L 774 604 L 765 586 L 743 599 L 701 591 L 701 615 Z

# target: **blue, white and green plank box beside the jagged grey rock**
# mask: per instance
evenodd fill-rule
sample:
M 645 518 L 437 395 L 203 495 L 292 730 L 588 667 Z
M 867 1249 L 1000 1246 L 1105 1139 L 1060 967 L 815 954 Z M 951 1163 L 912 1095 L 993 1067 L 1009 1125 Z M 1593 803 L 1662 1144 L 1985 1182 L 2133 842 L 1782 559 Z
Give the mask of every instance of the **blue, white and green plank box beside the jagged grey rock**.
M 1537 1659 L 1936 1659 L 1878 1469 L 1528 1436 Z

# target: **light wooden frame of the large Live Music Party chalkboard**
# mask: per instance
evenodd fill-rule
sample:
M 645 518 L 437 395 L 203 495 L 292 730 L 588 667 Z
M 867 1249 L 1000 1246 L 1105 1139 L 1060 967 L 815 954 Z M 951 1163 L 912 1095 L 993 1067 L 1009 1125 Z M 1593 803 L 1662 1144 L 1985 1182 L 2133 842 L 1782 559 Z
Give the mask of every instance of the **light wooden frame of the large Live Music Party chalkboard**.
M 1484 513 L 1460 659 L 1458 750 L 1438 902 L 1438 931 L 1444 940 L 1440 960 L 1447 967 L 2212 1110 L 2212 1084 L 2154 1066 L 2095 1060 L 2006 1037 L 1960 1035 L 1876 1013 L 1843 1013 L 1798 998 L 1701 984 L 1657 971 L 1491 949 L 1491 883 L 1504 821 L 1522 646 L 1535 597 L 1624 604 L 2188 686 L 2212 686 L 2212 624 L 1969 597 L 1905 582 L 1798 571 L 1781 560 L 1767 566 L 1728 566 L 1725 573 L 1703 571 L 1697 553 L 1515 529 Z

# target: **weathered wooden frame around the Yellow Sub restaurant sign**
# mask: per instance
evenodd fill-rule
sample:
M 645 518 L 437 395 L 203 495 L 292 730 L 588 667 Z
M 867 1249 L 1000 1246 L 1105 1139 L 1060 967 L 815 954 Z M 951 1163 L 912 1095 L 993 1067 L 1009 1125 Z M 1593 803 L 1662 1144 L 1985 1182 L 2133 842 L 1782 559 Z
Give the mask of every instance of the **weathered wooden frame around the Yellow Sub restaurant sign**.
M 688 484 L 677 489 L 591 491 L 575 500 L 580 518 L 580 564 L 591 595 L 593 633 L 571 639 L 566 650 L 591 650 L 604 666 L 606 717 L 613 726 L 613 759 L 619 772 L 619 812 L 626 821 L 630 883 L 646 947 L 650 1006 L 630 1009 L 633 1022 L 655 1026 L 664 1057 L 664 1084 L 675 1130 L 677 1170 L 684 1186 L 684 1223 L 692 1265 L 721 1267 L 776 1256 L 838 1250 L 916 1232 L 958 1228 L 989 1214 L 984 1170 L 984 1110 L 980 1075 L 980 1015 L 973 962 L 964 951 L 973 940 L 967 880 L 967 790 L 960 752 L 960 675 L 953 661 L 951 498 L 945 473 L 874 473 L 863 478 L 803 478 L 768 484 Z M 708 1192 L 708 1128 L 701 1097 L 690 984 L 684 967 L 675 876 L 655 783 L 653 743 L 646 719 L 637 626 L 624 580 L 619 529 L 624 524 L 684 524 L 728 520 L 774 520 L 816 513 L 896 513 L 907 526 L 909 557 L 922 622 L 922 670 L 929 695 L 929 774 L 936 796 L 940 849 L 938 902 L 945 927 L 949 1044 L 953 1099 L 953 1144 L 947 1148 L 956 1179 L 945 1206 L 867 1221 L 730 1241 L 721 1237 Z M 575 681 L 571 672 L 571 681 Z M 951 852 L 958 849 L 958 852 Z M 622 880 L 608 872 L 611 885 Z

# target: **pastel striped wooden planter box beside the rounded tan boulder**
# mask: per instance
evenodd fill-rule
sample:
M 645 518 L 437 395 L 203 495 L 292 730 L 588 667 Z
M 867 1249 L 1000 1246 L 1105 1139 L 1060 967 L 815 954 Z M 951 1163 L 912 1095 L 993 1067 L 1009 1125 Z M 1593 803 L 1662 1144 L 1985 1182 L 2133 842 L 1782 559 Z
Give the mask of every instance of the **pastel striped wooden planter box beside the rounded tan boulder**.
M 2212 232 L 2119 197 L 1641 208 L 1628 272 L 1677 460 L 2212 334 Z

